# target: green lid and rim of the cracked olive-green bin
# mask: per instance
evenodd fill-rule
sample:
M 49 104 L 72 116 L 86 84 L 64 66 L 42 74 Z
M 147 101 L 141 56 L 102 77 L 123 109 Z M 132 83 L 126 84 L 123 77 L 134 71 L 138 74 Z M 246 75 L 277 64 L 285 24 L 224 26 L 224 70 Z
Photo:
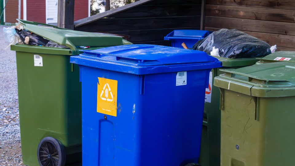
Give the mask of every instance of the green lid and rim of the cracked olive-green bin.
M 239 69 L 220 69 L 214 85 L 257 97 L 295 96 L 295 63 L 274 62 Z M 249 86 L 250 85 L 250 86 Z

